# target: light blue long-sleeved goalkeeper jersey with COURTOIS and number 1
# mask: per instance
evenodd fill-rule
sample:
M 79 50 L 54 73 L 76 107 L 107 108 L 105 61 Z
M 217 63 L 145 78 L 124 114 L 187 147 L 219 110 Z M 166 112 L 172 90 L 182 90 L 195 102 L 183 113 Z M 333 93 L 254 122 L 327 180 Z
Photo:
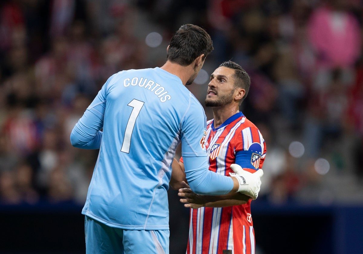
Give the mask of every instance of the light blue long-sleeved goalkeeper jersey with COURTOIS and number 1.
M 75 147 L 99 149 L 82 214 L 117 228 L 169 229 L 167 190 L 180 142 L 195 192 L 231 191 L 230 177 L 208 170 L 205 130 L 203 107 L 177 76 L 159 67 L 112 75 L 70 135 Z

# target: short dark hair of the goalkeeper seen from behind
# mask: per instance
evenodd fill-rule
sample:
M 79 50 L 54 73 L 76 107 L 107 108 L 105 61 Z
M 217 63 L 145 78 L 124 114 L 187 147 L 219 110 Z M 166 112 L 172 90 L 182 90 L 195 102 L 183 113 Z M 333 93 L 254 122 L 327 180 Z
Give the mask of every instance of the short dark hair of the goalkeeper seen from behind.
M 204 54 L 204 60 L 212 50 L 211 36 L 197 25 L 186 24 L 171 37 L 167 60 L 187 66 L 201 54 Z

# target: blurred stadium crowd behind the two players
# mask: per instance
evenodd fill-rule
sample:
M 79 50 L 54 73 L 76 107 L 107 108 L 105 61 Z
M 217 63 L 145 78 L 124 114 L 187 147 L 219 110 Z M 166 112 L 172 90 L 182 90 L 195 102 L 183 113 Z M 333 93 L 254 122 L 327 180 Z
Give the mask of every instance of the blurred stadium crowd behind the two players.
M 259 198 L 362 204 L 362 22 L 361 0 L 1 1 L 0 203 L 83 204 L 98 151 L 70 145 L 74 124 L 110 75 L 161 66 L 192 23 L 215 48 L 188 87 L 202 105 L 221 62 L 251 76 Z

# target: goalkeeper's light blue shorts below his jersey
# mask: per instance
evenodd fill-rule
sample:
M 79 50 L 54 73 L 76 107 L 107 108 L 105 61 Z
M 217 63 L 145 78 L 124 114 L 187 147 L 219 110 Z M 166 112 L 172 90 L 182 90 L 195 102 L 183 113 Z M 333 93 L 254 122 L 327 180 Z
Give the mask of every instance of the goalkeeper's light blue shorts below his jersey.
M 85 216 L 86 254 L 169 254 L 169 230 L 126 230 Z

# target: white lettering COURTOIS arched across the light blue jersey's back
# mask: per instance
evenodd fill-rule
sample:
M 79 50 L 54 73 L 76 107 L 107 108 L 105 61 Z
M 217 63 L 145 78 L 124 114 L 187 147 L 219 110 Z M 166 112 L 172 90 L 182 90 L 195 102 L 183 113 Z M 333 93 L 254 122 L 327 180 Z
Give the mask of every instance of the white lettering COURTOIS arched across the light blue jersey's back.
M 168 91 L 166 91 L 164 87 L 150 79 L 143 77 L 125 78 L 123 81 L 123 86 L 128 87 L 130 85 L 143 87 L 147 90 L 150 90 L 151 92 L 154 92 L 155 95 L 158 95 L 158 98 L 160 98 L 161 102 L 166 102 L 167 100 L 171 99 L 171 95 L 168 94 Z

